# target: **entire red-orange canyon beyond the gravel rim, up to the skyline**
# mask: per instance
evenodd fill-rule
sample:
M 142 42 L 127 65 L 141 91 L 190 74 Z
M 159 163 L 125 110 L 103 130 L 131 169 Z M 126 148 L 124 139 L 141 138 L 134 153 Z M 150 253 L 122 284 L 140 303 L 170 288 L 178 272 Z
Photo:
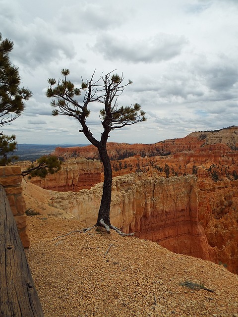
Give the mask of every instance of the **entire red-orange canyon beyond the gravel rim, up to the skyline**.
M 109 143 L 111 221 L 173 252 L 238 273 L 237 149 L 238 127 L 148 145 Z M 56 148 L 54 154 L 63 160 L 61 171 L 30 181 L 51 191 L 55 213 L 93 225 L 103 181 L 96 149 Z

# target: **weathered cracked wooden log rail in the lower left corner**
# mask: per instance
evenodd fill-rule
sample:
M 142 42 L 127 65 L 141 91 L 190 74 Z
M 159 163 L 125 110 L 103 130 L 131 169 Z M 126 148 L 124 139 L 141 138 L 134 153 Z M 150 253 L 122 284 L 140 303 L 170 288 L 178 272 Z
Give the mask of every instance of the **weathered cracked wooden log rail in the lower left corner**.
M 44 317 L 16 222 L 1 185 L 0 317 Z

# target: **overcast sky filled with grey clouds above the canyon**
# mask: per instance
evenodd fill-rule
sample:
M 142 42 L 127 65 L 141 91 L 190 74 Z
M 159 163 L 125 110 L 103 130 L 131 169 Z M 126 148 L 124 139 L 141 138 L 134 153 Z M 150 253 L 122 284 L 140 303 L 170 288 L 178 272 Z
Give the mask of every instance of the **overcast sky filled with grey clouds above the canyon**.
M 77 86 L 116 70 L 133 84 L 119 106 L 141 105 L 146 122 L 110 142 L 156 143 L 238 125 L 238 0 L 0 0 L 0 33 L 33 97 L 4 134 L 19 144 L 87 144 L 76 119 L 52 116 L 48 78 L 62 68 Z M 100 138 L 99 110 L 87 123 Z

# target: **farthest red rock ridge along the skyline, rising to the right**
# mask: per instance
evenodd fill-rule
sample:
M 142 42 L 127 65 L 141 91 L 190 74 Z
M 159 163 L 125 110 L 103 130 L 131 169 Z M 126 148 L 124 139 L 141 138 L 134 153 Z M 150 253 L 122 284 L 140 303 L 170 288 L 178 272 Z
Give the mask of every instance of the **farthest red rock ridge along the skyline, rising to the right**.
M 222 129 L 216 132 L 192 132 L 184 138 L 164 140 L 155 144 L 128 144 L 109 142 L 107 145 L 111 159 L 124 159 L 135 155 L 141 157 L 166 156 L 177 152 L 189 152 L 205 145 L 224 144 L 231 150 L 238 148 L 238 127 Z M 215 146 L 216 148 L 216 146 Z M 63 158 L 84 157 L 99 159 L 93 145 L 73 148 L 56 148 L 54 155 Z

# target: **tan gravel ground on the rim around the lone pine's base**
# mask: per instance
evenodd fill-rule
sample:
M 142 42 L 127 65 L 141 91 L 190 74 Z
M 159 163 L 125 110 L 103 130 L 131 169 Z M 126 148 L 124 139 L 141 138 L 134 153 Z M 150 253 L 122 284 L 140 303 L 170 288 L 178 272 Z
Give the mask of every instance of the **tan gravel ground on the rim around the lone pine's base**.
M 57 238 L 83 227 L 28 217 L 26 255 L 45 317 L 238 317 L 238 275 L 223 266 L 103 229 Z M 200 287 L 179 285 L 188 281 Z

